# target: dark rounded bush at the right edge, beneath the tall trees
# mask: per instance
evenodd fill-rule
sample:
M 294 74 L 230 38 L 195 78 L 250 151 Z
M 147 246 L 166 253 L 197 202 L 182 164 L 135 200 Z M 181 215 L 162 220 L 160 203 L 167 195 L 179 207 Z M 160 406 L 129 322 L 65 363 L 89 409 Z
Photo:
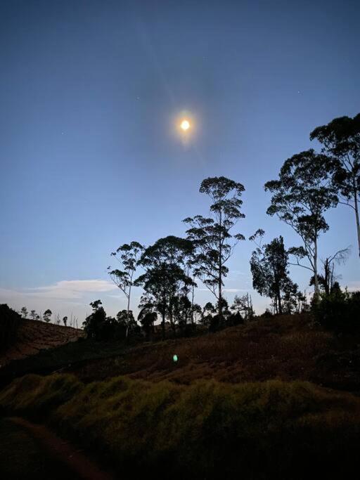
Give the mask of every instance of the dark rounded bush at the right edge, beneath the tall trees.
M 314 306 L 316 320 L 328 330 L 337 333 L 355 333 L 360 330 L 360 292 L 342 292 L 335 289 L 323 295 Z

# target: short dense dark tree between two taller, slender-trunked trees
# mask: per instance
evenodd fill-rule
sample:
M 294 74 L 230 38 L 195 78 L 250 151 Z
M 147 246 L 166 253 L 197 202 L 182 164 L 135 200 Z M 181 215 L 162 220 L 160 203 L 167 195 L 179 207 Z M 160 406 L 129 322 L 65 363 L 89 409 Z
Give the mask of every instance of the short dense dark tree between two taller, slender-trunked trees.
M 288 311 L 293 301 L 291 292 L 297 293 L 297 285 L 289 278 L 288 252 L 285 250 L 283 237 L 274 238 L 270 243 L 262 245 L 263 236 L 264 231 L 259 229 L 249 238 L 257 245 L 250 259 L 252 286 L 260 295 L 271 298 L 275 312 L 282 314 L 282 297 Z

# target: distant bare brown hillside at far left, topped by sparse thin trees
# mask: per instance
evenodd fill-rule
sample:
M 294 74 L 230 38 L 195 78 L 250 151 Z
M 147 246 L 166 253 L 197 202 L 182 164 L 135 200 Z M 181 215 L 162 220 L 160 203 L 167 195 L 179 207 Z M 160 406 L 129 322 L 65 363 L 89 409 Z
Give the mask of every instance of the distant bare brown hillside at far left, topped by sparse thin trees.
M 38 320 L 22 319 L 15 344 L 0 353 L 0 366 L 13 360 L 32 356 L 43 349 L 53 349 L 68 342 L 76 342 L 81 337 L 84 337 L 83 330 Z

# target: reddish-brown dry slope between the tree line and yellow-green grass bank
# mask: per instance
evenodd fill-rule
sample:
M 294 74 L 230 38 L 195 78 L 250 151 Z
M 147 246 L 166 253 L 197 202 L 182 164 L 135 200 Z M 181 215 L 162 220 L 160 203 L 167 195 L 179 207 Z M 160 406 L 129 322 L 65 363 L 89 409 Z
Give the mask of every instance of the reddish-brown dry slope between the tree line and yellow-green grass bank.
M 360 391 L 359 347 L 360 338 L 336 337 L 316 325 L 311 316 L 279 316 L 214 334 L 134 346 L 69 343 L 12 362 L 0 370 L 0 380 L 7 383 L 25 373 L 61 370 L 84 382 L 116 375 L 177 384 L 204 379 L 228 383 L 278 379 L 355 392 Z

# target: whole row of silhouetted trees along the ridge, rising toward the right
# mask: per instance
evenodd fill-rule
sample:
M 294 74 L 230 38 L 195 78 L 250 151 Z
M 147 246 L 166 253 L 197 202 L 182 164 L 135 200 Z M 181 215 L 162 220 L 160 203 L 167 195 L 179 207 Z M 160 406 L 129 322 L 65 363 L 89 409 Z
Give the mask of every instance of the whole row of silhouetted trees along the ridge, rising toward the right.
M 261 228 L 249 238 L 256 246 L 250 259 L 252 285 L 271 299 L 275 313 L 309 309 L 306 295 L 290 279 L 290 265 L 309 271 L 314 305 L 319 304 L 322 293 L 330 295 L 334 288 L 339 290 L 334 268 L 347 259 L 349 247 L 321 260 L 319 238 L 329 228 L 325 219 L 328 209 L 346 205 L 353 210 L 360 256 L 360 114 L 333 119 L 314 129 L 310 138 L 319 141 L 321 152 L 309 149 L 293 155 L 283 163 L 278 179 L 264 185 L 271 193 L 266 213 L 293 228 L 300 245 L 286 249 L 281 236 L 263 244 L 265 233 Z M 134 286 L 143 288 L 138 320 L 147 336 L 158 316 L 164 338 L 166 320 L 172 329 L 207 322 L 216 330 L 254 316 L 249 296 L 236 297 L 229 309 L 223 294 L 228 261 L 238 242 L 245 240 L 238 231 L 238 222 L 245 218 L 241 199 L 244 190 L 242 183 L 224 176 L 204 179 L 200 193 L 209 198 L 209 211 L 207 216 L 184 219 L 185 238 L 169 235 L 148 247 L 133 241 L 111 254 L 118 265 L 108 267 L 110 278 L 127 298 L 127 309 L 117 316 L 125 337 L 131 325 L 136 325 L 130 309 Z M 136 277 L 139 268 L 142 273 Z M 199 281 L 212 293 L 214 304 L 209 302 L 201 308 L 195 303 L 194 290 Z M 94 311 L 84 324 L 88 330 L 94 315 L 99 316 L 96 312 L 102 309 L 97 302 L 91 305 Z M 101 316 L 105 322 L 102 311 Z

